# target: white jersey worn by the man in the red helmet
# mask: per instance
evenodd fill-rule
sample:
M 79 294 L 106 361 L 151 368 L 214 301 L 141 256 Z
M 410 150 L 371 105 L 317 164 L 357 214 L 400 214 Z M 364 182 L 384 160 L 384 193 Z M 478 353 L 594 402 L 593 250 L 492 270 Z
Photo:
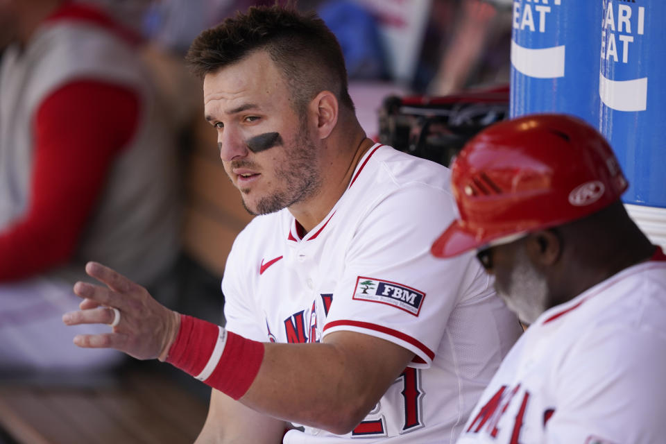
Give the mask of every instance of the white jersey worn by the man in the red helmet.
M 458 443 L 666 443 L 666 256 L 545 311 Z

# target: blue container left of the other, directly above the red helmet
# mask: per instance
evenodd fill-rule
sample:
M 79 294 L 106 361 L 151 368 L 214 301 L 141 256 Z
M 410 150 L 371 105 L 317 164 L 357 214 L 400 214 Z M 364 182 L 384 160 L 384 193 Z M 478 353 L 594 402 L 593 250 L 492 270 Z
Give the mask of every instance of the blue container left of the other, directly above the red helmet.
M 513 0 L 511 117 L 563 112 L 599 128 L 602 14 L 599 0 Z

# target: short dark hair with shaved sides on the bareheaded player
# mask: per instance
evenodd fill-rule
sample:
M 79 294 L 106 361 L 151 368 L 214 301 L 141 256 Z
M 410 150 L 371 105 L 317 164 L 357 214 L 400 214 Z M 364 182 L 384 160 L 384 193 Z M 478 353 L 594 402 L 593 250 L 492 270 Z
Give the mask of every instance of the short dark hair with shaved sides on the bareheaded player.
M 284 6 L 257 6 L 238 12 L 196 37 L 186 60 L 194 74 L 203 78 L 261 50 L 282 71 L 296 107 L 302 109 L 328 90 L 354 110 L 342 49 L 315 12 L 301 14 Z

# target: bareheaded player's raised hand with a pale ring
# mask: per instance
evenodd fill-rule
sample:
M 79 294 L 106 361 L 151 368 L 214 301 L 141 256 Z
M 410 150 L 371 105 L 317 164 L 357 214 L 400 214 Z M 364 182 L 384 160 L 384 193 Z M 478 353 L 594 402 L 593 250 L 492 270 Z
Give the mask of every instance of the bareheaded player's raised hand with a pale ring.
M 80 310 L 62 316 L 67 325 L 112 324 L 119 311 L 117 325 L 106 334 L 78 334 L 74 343 L 82 348 L 115 348 L 137 359 L 164 360 L 180 327 L 180 316 L 157 302 L 144 287 L 120 273 L 88 262 L 85 272 L 101 285 L 76 282 L 74 293 L 83 301 Z

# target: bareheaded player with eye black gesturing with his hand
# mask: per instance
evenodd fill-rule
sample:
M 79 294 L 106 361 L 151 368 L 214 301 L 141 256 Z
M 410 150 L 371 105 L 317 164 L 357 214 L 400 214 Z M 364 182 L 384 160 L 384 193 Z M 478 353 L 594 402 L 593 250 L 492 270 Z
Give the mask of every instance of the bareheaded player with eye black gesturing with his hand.
M 159 355 L 212 386 L 199 443 L 454 441 L 521 329 L 474 255 L 430 254 L 454 216 L 449 171 L 365 137 L 314 15 L 253 8 L 188 57 L 228 176 L 260 214 L 227 261 L 226 325 L 89 264 L 109 289 L 77 284 L 83 310 L 65 322 L 117 325 L 75 343 Z

